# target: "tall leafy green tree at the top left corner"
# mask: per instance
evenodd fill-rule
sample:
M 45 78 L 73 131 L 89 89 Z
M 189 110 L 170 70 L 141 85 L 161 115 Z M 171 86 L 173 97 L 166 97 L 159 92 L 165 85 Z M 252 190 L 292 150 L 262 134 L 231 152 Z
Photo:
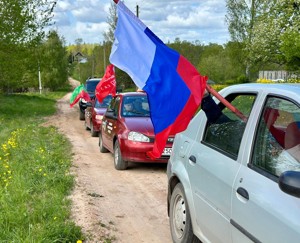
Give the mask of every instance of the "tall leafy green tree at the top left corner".
M 0 62 L 0 89 L 23 87 L 24 72 L 32 67 L 55 4 L 53 0 L 0 1 L 0 60 L 5 60 Z

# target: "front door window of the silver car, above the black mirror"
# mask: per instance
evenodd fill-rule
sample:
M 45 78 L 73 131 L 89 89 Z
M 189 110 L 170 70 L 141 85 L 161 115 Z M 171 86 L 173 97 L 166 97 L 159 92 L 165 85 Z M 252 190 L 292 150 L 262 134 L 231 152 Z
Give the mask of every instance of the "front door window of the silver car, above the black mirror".
M 252 165 L 276 177 L 300 171 L 300 108 L 289 100 L 268 97 L 259 120 Z

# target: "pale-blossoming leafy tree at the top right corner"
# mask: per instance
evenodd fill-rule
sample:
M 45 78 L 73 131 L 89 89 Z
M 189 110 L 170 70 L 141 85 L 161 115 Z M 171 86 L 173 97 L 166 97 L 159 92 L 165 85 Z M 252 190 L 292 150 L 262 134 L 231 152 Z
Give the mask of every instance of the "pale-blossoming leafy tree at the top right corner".
M 253 62 L 269 62 L 287 69 L 299 69 L 300 1 L 274 1 L 253 28 L 249 50 Z M 266 34 L 267 33 L 267 34 Z

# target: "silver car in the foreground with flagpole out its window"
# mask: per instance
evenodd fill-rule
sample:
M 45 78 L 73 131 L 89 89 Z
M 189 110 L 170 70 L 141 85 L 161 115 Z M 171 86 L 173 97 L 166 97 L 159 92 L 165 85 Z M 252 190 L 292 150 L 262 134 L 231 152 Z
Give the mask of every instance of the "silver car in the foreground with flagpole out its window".
M 300 242 L 300 85 L 242 84 L 176 135 L 168 175 L 174 242 Z

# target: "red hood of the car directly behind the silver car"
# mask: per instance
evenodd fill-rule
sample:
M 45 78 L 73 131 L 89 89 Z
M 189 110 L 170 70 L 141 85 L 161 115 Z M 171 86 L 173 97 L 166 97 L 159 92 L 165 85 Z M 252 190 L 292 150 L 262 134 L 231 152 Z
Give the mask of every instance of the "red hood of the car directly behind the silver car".
M 126 117 L 124 118 L 127 129 L 154 136 L 154 129 L 150 117 Z

